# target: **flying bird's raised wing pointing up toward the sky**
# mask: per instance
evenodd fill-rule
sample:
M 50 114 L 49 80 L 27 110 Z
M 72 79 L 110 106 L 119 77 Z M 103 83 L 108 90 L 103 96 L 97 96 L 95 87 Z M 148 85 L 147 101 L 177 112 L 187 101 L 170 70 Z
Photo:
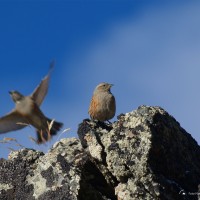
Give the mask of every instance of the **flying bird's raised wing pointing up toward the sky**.
M 35 90 L 33 91 L 33 93 L 31 94 L 31 97 L 33 98 L 33 100 L 35 101 L 35 103 L 40 106 L 48 92 L 48 88 L 49 88 L 49 79 L 50 79 L 50 75 L 51 75 L 51 71 L 54 67 L 55 61 L 52 61 L 50 63 L 50 67 L 49 67 L 49 72 L 48 74 L 42 79 L 42 81 L 40 82 L 40 84 L 35 88 Z

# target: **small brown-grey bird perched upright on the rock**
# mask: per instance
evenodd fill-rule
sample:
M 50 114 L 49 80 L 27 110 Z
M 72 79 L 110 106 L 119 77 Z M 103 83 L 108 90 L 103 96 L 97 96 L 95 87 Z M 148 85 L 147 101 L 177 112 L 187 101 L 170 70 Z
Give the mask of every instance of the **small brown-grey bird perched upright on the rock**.
M 103 122 L 115 116 L 115 97 L 110 91 L 112 86 L 109 83 L 100 83 L 95 88 L 88 111 L 91 119 Z

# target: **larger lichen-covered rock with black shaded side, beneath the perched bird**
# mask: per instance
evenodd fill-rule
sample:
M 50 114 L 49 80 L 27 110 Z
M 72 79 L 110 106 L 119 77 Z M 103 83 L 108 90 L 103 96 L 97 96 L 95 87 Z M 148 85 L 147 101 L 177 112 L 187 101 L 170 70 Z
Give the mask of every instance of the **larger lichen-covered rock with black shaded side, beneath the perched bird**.
M 107 128 L 84 123 L 82 143 L 118 199 L 197 199 L 200 147 L 163 109 L 141 106 Z

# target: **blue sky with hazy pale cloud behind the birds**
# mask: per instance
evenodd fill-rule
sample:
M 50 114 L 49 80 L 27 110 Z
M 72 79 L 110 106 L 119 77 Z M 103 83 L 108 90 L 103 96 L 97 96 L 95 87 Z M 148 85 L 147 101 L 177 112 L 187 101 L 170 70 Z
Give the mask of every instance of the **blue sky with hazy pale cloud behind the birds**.
M 46 152 L 58 137 L 76 137 L 94 88 L 105 81 L 114 84 L 116 116 L 161 106 L 200 143 L 199 9 L 198 1 L 1 0 L 0 115 L 14 107 L 8 91 L 32 93 L 55 59 L 41 109 L 70 131 L 40 146 L 30 127 L 0 140 Z M 18 149 L 0 144 L 0 157 L 8 147 Z

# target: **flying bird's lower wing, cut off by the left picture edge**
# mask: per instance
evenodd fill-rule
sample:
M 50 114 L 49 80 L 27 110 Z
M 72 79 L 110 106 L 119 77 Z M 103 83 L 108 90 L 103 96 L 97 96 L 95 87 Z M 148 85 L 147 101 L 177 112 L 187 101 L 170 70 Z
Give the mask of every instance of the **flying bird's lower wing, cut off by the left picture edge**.
M 0 118 L 0 133 L 15 131 L 27 126 L 27 121 L 15 110 Z

